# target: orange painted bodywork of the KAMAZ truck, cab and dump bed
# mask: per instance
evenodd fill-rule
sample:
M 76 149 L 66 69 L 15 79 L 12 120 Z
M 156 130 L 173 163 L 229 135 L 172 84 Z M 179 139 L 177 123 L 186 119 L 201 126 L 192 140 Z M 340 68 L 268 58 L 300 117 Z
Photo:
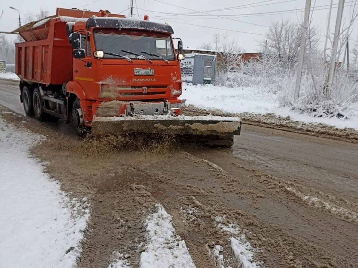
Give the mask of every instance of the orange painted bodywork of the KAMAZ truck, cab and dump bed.
M 180 62 L 176 57 L 169 61 L 152 60 L 152 63 L 135 58 L 129 62 L 123 58 L 93 57 L 96 48 L 92 37 L 93 31 L 98 27 L 88 27 L 86 19 L 94 18 L 93 16 L 103 18 L 103 14 L 106 13 L 57 8 L 55 16 L 30 27 L 20 28 L 19 33 L 25 39 L 25 42 L 16 44 L 16 74 L 21 79 L 20 91 L 21 85 L 39 87 L 43 92 L 49 92 L 44 93 L 50 96 L 45 96 L 45 100 L 63 105 L 67 103 L 67 111 L 71 96 L 77 97 L 81 103 L 84 125 L 87 127 L 92 125 L 95 115 L 124 115 L 130 103 L 180 103 L 178 97 L 182 92 L 182 80 Z M 108 21 L 111 21 L 111 18 L 125 17 L 117 14 L 106 15 Z M 73 57 L 68 35 L 69 23 L 73 27 L 72 31 L 87 36 L 86 57 L 83 59 Z M 140 22 L 135 23 L 141 25 Z M 106 27 L 102 26 L 101 29 Z M 175 53 L 172 33 L 163 29 L 145 29 L 143 26 L 136 29 L 131 26 L 128 29 L 122 27 L 116 30 L 122 34 L 132 33 L 138 36 L 170 36 Z M 135 69 L 152 69 L 154 75 L 138 76 L 135 75 Z M 66 99 L 53 99 L 51 93 L 59 89 L 61 91 L 61 88 L 67 93 Z M 68 118 L 68 113 L 55 112 L 53 105 L 44 107 L 50 114 Z M 180 114 L 181 109 L 175 109 L 173 113 Z

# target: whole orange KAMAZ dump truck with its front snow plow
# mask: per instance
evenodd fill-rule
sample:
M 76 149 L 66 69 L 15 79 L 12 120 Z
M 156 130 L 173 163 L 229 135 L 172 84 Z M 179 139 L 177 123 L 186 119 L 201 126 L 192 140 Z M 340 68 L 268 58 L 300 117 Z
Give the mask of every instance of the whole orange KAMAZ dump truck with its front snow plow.
M 16 74 L 28 116 L 61 118 L 79 135 L 91 128 L 93 135 L 190 135 L 231 146 L 240 134 L 237 117 L 181 115 L 185 56 L 168 24 L 57 8 L 16 31 L 25 40 L 16 44 Z

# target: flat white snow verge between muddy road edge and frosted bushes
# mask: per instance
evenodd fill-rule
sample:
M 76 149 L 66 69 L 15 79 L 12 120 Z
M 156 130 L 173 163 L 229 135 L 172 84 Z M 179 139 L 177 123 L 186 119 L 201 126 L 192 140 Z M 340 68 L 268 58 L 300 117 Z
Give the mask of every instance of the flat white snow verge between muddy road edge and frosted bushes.
M 349 119 L 313 117 L 307 113 L 291 111 L 289 107 L 279 107 L 278 95 L 262 92 L 259 88 L 228 88 L 223 86 L 183 84 L 182 99 L 186 104 L 206 109 L 220 109 L 233 113 L 274 113 L 290 116 L 294 121 L 324 123 L 338 128 L 358 130 L 358 104 L 350 107 Z

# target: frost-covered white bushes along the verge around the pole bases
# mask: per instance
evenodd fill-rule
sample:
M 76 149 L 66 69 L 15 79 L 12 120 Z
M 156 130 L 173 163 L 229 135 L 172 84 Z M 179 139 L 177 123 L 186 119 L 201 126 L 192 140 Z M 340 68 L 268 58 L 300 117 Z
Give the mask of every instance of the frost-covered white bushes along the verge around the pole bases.
M 234 72 L 218 73 L 216 84 L 260 88 L 262 93 L 277 94 L 280 106 L 318 117 L 349 117 L 348 107 L 358 105 L 358 77 L 349 74 L 343 67 L 337 67 L 330 94 L 326 96 L 328 63 L 320 52 L 308 54 L 296 103 L 293 101 L 296 67 L 289 69 L 284 66 L 275 56 L 263 55 L 258 61 L 241 63 Z

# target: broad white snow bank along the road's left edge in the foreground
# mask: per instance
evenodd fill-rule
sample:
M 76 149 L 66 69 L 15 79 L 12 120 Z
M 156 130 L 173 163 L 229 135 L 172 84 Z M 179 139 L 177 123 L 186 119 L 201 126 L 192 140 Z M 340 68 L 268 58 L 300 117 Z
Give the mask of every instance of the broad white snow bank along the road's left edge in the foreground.
M 0 117 L 0 266 L 74 267 L 89 217 L 86 199 L 70 199 L 29 149 L 43 136 Z

